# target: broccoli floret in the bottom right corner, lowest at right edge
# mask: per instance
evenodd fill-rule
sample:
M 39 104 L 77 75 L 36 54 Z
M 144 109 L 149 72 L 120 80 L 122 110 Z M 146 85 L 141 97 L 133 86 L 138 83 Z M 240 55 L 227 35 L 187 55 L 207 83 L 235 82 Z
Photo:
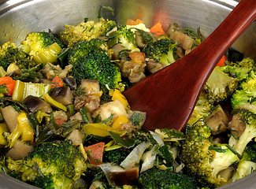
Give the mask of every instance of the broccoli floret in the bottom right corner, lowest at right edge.
M 236 172 L 232 176 L 232 180 L 242 179 L 244 176 L 256 170 L 256 145 L 246 146 L 243 151 L 243 158 L 239 161 Z

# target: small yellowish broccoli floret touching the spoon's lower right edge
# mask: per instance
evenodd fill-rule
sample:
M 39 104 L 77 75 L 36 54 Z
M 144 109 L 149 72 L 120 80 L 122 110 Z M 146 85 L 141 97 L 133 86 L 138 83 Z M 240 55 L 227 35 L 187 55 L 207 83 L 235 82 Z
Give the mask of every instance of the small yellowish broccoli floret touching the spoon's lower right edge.
M 210 115 L 213 111 L 213 102 L 211 102 L 206 95 L 205 91 L 202 91 L 198 98 L 198 102 L 196 102 L 195 108 L 191 114 L 191 117 L 187 121 L 187 124 L 193 125 L 195 122 L 198 124 L 203 124 L 203 121 L 198 121 L 200 119 L 204 119 Z

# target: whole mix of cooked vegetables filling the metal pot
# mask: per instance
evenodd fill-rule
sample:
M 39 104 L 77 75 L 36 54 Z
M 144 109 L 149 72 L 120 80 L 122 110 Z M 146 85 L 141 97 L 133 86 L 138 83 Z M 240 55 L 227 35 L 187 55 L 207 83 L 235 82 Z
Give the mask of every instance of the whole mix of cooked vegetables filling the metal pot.
M 184 57 L 201 33 L 103 18 L 65 28 L 0 49 L 1 172 L 41 188 L 133 189 L 214 188 L 254 172 L 253 59 L 228 50 L 186 130 L 147 132 L 147 114 L 122 91 Z

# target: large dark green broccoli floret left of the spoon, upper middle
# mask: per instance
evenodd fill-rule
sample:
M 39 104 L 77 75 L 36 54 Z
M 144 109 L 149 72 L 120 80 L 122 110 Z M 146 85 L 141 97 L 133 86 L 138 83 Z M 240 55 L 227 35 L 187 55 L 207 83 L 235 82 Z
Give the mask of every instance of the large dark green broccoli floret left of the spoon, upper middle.
M 69 63 L 73 65 L 72 76 L 80 83 L 83 79 L 98 80 L 104 95 L 110 89 L 124 91 L 121 83 L 121 72 L 107 55 L 105 42 L 91 39 L 77 43 L 69 54 Z

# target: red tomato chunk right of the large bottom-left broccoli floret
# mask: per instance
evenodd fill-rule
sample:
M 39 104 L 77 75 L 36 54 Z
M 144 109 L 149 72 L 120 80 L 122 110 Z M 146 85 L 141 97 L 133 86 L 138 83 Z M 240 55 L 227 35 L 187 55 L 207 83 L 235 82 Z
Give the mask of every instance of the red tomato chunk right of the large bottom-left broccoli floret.
M 88 155 L 88 159 L 91 164 L 93 164 L 93 165 L 102 164 L 104 145 L 105 145 L 105 143 L 95 143 L 91 146 L 87 146 L 84 148 L 84 150 L 86 152 L 88 150 L 91 150 L 90 155 Z

